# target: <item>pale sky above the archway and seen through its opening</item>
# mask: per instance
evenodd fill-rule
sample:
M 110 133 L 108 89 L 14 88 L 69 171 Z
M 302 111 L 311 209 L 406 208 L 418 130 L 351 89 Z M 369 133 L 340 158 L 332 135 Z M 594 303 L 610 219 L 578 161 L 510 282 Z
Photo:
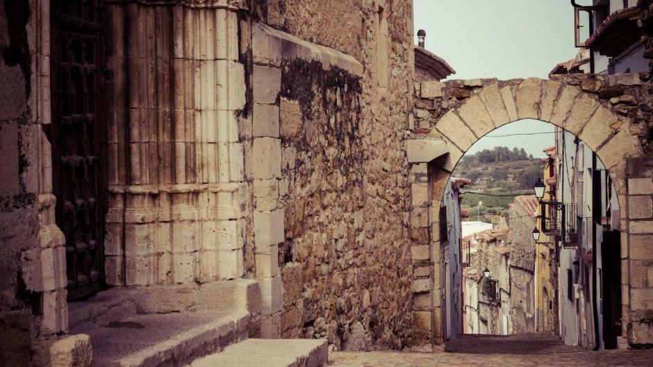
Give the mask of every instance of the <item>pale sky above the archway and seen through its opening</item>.
M 569 0 L 415 0 L 414 17 L 415 43 L 418 29 L 424 29 L 426 48 L 456 70 L 448 79 L 547 78 L 557 63 L 579 51 Z M 549 123 L 522 120 L 488 135 L 552 130 Z M 553 144 L 553 134 L 485 137 L 468 152 L 517 146 L 543 157 L 542 149 Z

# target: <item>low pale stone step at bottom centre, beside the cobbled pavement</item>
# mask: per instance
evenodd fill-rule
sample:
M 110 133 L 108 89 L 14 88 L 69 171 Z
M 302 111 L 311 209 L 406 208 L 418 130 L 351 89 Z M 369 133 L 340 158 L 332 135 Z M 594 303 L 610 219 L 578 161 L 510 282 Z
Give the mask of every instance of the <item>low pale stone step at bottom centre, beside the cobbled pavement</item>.
M 327 366 L 328 354 L 325 339 L 247 339 L 188 366 L 322 367 Z

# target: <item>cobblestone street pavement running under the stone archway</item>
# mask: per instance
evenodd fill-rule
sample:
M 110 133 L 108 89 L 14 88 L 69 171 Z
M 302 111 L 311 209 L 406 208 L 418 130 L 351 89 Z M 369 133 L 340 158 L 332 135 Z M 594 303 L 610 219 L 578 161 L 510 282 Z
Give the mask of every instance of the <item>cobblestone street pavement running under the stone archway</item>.
M 595 352 L 549 334 L 464 335 L 442 352 L 329 352 L 329 366 L 653 366 L 653 350 Z

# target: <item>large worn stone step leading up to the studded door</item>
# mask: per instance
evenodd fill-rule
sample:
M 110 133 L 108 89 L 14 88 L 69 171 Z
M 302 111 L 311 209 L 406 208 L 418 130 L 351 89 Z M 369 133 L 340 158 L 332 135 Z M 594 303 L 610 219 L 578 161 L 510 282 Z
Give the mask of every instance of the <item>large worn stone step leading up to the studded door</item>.
M 248 327 L 245 310 L 206 310 L 140 314 L 75 331 L 90 336 L 92 366 L 159 367 L 183 366 L 247 339 Z

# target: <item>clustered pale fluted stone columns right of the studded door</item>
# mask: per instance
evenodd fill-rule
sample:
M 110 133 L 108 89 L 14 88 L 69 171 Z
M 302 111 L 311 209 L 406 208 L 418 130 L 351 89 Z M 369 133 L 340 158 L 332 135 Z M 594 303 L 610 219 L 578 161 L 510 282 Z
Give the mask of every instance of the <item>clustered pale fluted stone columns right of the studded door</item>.
M 245 69 L 235 3 L 106 4 L 110 285 L 242 277 L 236 114 Z

